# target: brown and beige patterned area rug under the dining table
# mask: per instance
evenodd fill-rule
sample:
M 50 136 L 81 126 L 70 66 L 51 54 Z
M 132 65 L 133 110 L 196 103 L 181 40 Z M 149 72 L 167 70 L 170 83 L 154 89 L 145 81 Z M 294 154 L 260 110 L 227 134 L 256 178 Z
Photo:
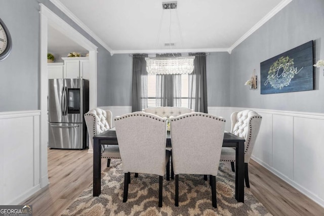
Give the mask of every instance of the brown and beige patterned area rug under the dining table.
M 101 174 L 101 194 L 93 197 L 90 186 L 62 215 L 271 215 L 245 188 L 245 202 L 235 200 L 235 175 L 220 163 L 216 177 L 217 208 L 212 207 L 209 181 L 203 176 L 179 175 L 179 207 L 174 205 L 175 181 L 163 181 L 163 207 L 158 207 L 158 176 L 131 175 L 128 200 L 123 203 L 124 173 L 120 160 L 112 160 Z

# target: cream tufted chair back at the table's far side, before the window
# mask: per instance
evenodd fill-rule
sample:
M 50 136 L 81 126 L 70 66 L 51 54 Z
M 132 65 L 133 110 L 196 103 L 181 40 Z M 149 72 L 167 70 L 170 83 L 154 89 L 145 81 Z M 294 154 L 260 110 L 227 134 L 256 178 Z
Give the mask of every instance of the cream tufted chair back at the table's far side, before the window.
M 193 112 L 192 109 L 186 107 L 148 107 L 143 109 L 143 111 L 167 118 Z

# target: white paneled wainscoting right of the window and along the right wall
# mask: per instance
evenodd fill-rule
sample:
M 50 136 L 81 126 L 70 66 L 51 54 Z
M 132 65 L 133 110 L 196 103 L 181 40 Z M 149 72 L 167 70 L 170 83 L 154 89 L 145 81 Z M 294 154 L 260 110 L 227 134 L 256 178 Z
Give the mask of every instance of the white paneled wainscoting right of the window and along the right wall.
M 230 130 L 232 112 L 251 109 L 208 107 Z M 253 109 L 262 115 L 252 158 L 324 207 L 324 114 Z

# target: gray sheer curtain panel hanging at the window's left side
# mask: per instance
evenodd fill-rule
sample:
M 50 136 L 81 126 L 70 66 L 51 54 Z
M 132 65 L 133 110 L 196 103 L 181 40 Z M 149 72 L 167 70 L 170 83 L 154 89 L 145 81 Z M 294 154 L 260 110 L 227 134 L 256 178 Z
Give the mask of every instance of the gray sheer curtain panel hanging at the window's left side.
M 132 112 L 142 111 L 147 107 L 147 54 L 133 55 Z

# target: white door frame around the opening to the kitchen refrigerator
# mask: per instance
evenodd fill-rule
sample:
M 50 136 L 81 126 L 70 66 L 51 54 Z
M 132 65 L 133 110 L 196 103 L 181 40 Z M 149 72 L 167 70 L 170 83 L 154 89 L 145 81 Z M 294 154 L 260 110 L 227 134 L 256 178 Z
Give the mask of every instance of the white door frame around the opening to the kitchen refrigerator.
M 41 7 L 41 22 L 40 22 L 40 174 L 41 174 L 41 188 L 49 184 L 48 181 L 48 167 L 47 167 L 47 149 L 48 149 L 48 73 L 47 73 L 47 46 L 48 46 L 48 25 L 51 25 L 56 30 L 65 34 L 67 37 L 75 41 L 81 47 L 89 51 L 89 107 L 90 109 L 97 107 L 97 49 L 90 40 L 80 34 L 72 26 L 66 23 L 63 19 L 57 16 L 54 12 L 48 9 L 45 5 L 39 4 Z

